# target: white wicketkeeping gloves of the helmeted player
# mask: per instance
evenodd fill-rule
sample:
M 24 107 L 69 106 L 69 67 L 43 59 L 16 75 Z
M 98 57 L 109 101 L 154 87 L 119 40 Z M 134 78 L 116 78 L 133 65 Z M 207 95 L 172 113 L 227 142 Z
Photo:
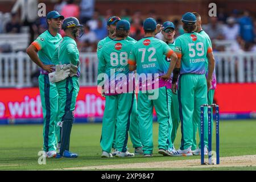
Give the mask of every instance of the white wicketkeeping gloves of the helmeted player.
M 64 80 L 69 76 L 69 73 L 70 68 L 63 67 L 63 65 L 56 65 L 56 71 L 48 74 L 49 81 L 53 83 Z

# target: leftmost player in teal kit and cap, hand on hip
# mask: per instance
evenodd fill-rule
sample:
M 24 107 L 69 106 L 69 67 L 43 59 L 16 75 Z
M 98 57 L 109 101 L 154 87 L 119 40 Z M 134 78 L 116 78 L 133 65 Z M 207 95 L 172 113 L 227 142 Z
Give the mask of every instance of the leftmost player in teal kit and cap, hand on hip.
M 43 109 L 43 150 L 48 158 L 56 156 L 56 117 L 58 110 L 58 93 L 55 83 L 49 82 L 48 73 L 54 71 L 51 61 L 55 49 L 59 46 L 62 37 L 57 32 L 61 28 L 61 16 L 57 11 L 47 14 L 48 30 L 27 48 L 31 60 L 40 67 L 38 77 L 39 90 Z

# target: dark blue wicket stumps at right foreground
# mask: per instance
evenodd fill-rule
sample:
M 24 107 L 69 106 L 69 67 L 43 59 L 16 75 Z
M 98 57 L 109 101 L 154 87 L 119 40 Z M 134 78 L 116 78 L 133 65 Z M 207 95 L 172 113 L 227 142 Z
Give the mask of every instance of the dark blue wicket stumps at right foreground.
M 201 164 L 204 162 L 204 107 L 208 108 L 208 164 L 212 163 L 212 107 L 215 107 L 215 120 L 216 120 L 216 164 L 220 164 L 220 133 L 219 122 L 220 117 L 218 113 L 217 104 L 204 104 L 201 105 Z

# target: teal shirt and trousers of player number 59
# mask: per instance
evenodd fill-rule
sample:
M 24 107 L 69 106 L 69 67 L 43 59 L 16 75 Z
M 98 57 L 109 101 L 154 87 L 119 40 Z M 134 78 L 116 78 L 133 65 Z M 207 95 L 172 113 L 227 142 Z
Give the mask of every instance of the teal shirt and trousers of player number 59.
M 175 52 L 181 59 L 178 85 L 181 150 L 192 147 L 194 126 L 200 123 L 200 106 L 207 104 L 205 64 L 209 51 L 212 51 L 209 41 L 196 32 L 185 33 L 175 42 Z M 208 145 L 207 121 L 204 125 L 204 144 Z

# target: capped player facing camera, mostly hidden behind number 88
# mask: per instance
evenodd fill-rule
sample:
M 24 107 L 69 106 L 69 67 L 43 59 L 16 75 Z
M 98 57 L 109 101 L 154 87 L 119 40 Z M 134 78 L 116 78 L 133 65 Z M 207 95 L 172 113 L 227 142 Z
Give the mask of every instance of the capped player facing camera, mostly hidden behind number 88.
M 118 16 L 111 16 L 108 19 L 107 27 L 108 27 L 108 31 L 109 31 L 109 36 L 107 36 L 105 39 L 102 39 L 102 40 L 100 40 L 100 42 L 98 42 L 98 46 L 97 46 L 98 60 L 100 60 L 100 54 L 101 54 L 102 47 L 104 46 L 104 44 L 115 39 L 115 26 L 119 20 L 120 20 L 120 18 Z M 130 40 L 132 42 L 134 42 L 134 41 L 137 42 L 130 36 L 127 36 L 126 40 Z M 133 147 L 135 148 L 134 154 L 135 155 L 143 154 L 141 139 L 139 138 L 139 121 L 138 121 L 137 97 L 136 96 L 134 96 L 133 110 L 131 111 L 131 122 L 130 122 L 129 134 L 130 134 L 130 138 L 131 138 L 131 143 L 133 143 Z M 112 155 L 117 154 L 117 150 L 115 150 L 115 138 L 114 138 L 112 147 L 114 148 Z

